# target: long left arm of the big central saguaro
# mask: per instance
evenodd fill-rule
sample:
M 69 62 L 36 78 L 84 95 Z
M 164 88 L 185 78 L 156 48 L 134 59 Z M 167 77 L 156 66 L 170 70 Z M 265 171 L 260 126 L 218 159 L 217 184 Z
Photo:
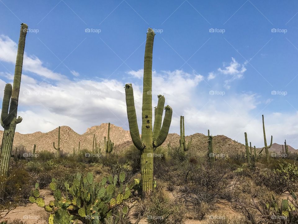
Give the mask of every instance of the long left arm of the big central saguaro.
M 137 114 L 136 109 L 134 106 L 134 99 L 133 99 L 133 86 L 131 84 L 125 85 L 125 97 L 126 97 L 126 107 L 127 107 L 127 116 L 128 116 L 128 123 L 129 123 L 129 132 L 133 144 L 139 149 L 144 149 L 144 144 L 141 141 L 139 128 L 137 123 Z

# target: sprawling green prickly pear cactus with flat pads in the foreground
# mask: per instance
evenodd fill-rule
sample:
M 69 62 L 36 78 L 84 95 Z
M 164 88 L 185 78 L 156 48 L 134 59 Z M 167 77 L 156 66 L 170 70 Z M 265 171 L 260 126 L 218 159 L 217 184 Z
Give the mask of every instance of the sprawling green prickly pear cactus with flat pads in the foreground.
M 94 181 L 91 172 L 85 176 L 77 174 L 72 184 L 65 183 L 66 193 L 62 195 L 57 189 L 56 180 L 52 179 L 50 189 L 54 191 L 55 201 L 45 205 L 38 189 L 32 191 L 29 201 L 51 213 L 49 224 L 72 224 L 75 220 L 99 224 L 112 215 L 111 218 L 117 223 L 120 219 L 115 217 L 122 218 L 128 213 L 128 207 L 122 204 L 132 195 L 132 190 L 138 190 L 140 184 L 135 179 L 133 183 L 125 185 L 124 180 L 125 173 L 120 173 L 119 177 L 104 177 L 100 182 Z

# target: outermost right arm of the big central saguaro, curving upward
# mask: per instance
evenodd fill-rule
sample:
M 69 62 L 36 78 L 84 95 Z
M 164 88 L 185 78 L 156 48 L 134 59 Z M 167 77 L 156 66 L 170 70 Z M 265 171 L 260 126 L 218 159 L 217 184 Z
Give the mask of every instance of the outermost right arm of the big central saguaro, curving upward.
M 153 147 L 154 148 L 159 147 L 165 141 L 165 139 L 167 138 L 167 135 L 169 133 L 171 120 L 172 120 L 172 114 L 173 114 L 172 108 L 169 105 L 165 106 L 164 121 L 162 123 L 162 127 L 160 129 L 159 136 L 157 137 L 156 141 L 153 142 Z

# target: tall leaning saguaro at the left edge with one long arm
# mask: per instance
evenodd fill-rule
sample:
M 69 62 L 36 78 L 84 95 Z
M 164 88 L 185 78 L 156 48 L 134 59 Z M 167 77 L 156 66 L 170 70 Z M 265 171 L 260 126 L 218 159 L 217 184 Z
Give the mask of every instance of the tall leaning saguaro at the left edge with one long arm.
M 1 111 L 1 126 L 4 128 L 1 147 L 1 175 L 6 176 L 9 170 L 12 143 L 15 135 L 16 124 L 21 123 L 22 118 L 17 116 L 21 75 L 23 67 L 23 57 L 25 49 L 25 39 L 28 26 L 25 23 L 21 24 L 20 39 L 18 44 L 18 53 L 16 55 L 15 75 L 13 78 L 13 86 L 7 83 L 4 88 L 4 96 Z M 9 112 L 8 112 L 9 109 Z

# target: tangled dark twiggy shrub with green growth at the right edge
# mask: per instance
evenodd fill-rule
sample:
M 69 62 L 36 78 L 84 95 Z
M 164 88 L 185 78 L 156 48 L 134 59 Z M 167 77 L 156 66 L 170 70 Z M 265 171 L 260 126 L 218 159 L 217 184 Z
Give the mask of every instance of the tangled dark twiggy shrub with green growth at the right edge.
M 278 169 L 256 170 L 254 179 L 256 184 L 264 184 L 278 195 L 287 191 L 296 191 L 298 188 L 298 167 L 283 162 L 279 164 Z

